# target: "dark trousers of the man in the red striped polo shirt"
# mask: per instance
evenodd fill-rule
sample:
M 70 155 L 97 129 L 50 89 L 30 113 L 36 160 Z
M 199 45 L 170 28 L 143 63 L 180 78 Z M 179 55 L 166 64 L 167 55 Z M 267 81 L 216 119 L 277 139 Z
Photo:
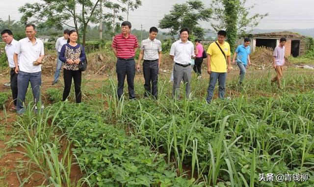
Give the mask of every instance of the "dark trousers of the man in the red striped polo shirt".
M 118 77 L 117 94 L 120 99 L 123 94 L 124 80 L 127 75 L 129 98 L 134 99 L 134 76 L 135 76 L 135 61 L 134 60 L 117 60 L 116 72 Z

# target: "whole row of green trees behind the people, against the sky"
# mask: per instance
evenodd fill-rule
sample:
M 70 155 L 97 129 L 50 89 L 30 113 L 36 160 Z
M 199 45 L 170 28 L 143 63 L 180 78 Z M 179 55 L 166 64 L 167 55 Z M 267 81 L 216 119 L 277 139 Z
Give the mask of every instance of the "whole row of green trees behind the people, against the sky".
M 227 41 L 231 48 L 235 48 L 237 35 L 249 32 L 267 16 L 267 13 L 255 13 L 249 16 L 254 5 L 247 7 L 246 1 L 212 0 L 209 6 L 206 6 L 202 0 L 177 3 L 172 6 L 169 14 L 164 15 L 157 26 L 167 29 L 166 36 L 173 40 L 178 39 L 178 32 L 183 27 L 190 29 L 191 37 L 205 39 L 205 29 L 200 26 L 201 22 L 205 22 L 215 32 L 221 29 L 226 30 Z M 47 32 L 52 36 L 57 36 L 65 26 L 76 29 L 81 34 L 81 43 L 84 45 L 86 39 L 97 39 L 95 37 L 98 35 L 97 32 L 102 32 L 105 39 L 120 32 L 120 22 L 123 21 L 121 13 L 126 12 L 129 15 L 129 11 L 141 5 L 141 0 L 116 0 L 116 2 L 112 0 L 41 0 L 36 3 L 26 3 L 19 8 L 19 12 L 23 14 L 20 23 L 22 25 L 28 22 L 35 23 L 40 28 L 40 34 Z M 99 26 L 90 26 L 100 21 L 102 29 Z M 11 25 L 12 30 L 14 31 L 15 26 L 17 28 L 22 26 L 21 24 L 15 22 L 15 25 Z M 138 30 L 132 30 L 132 32 L 138 32 Z M 148 32 L 144 31 L 141 35 L 145 39 Z

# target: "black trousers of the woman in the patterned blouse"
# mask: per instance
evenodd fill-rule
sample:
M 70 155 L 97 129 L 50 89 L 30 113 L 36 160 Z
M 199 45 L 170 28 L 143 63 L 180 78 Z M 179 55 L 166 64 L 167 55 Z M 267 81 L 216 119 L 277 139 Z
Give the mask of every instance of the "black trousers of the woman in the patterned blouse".
M 74 80 L 75 100 L 77 103 L 80 103 L 82 100 L 82 94 L 80 92 L 82 72 L 79 70 L 63 69 L 64 91 L 63 91 L 62 101 L 65 101 L 65 99 L 67 99 L 67 97 L 70 94 L 72 78 Z

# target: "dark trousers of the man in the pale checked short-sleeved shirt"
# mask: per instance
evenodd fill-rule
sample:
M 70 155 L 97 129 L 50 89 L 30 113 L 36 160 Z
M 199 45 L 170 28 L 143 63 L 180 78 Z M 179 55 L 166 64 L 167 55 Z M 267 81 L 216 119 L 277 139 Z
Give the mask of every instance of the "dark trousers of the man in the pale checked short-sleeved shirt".
M 145 93 L 144 97 L 148 97 L 152 94 L 155 98 L 157 98 L 158 90 L 157 90 L 157 83 L 158 83 L 158 60 L 149 62 L 144 60 L 143 62 L 143 74 L 145 79 Z M 152 83 L 152 86 L 151 86 Z

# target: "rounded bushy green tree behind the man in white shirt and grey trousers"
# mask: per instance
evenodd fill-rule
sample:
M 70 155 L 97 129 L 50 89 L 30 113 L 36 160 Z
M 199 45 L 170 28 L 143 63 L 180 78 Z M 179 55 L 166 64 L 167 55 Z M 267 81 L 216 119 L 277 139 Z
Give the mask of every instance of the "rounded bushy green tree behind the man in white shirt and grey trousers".
M 183 4 L 175 4 L 160 21 L 159 27 L 162 29 L 169 29 L 168 36 L 172 36 L 175 40 L 175 35 L 183 27 L 188 27 L 190 34 L 203 39 L 204 29 L 199 25 L 200 21 L 209 22 L 211 9 L 206 8 L 201 0 L 189 0 Z

